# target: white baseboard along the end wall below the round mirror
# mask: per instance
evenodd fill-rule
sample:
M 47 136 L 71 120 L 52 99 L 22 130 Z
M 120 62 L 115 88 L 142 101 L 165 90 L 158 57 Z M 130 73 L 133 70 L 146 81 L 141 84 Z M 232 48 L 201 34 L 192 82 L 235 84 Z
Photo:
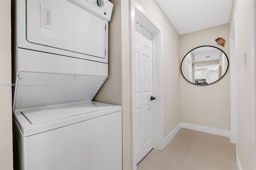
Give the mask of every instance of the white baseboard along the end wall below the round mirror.
M 205 127 L 202 125 L 195 125 L 191 123 L 184 123 L 181 122 L 181 127 L 182 128 L 188 128 L 192 130 L 197 130 L 200 132 L 206 132 L 206 133 L 211 133 L 211 134 L 217 134 L 220 136 L 226 136 L 230 138 L 230 130 L 225 130 L 225 129 L 220 129 L 220 128 L 213 128 L 213 127 Z

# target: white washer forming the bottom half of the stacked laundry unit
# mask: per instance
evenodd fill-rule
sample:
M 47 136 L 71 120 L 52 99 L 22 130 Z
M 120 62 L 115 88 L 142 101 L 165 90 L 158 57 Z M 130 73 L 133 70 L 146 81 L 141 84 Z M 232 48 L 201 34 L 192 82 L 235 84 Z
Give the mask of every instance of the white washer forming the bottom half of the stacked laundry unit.
M 90 101 L 14 111 L 16 168 L 121 170 L 121 116 Z

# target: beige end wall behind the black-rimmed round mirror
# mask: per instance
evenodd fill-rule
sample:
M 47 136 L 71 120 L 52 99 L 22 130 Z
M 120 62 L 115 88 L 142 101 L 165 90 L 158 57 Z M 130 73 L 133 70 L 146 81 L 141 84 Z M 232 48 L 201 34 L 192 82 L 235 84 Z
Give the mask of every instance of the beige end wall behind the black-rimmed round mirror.
M 222 37 L 225 47 L 214 41 Z M 229 24 L 183 34 L 180 36 L 180 62 L 191 49 L 212 45 L 229 57 Z M 217 83 L 198 86 L 188 83 L 180 75 L 181 121 L 207 127 L 230 130 L 230 72 Z

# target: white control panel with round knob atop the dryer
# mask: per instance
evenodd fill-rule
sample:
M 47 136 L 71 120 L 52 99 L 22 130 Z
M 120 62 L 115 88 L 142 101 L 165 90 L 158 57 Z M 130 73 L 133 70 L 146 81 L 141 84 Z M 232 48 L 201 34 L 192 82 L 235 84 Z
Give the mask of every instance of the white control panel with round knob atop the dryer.
M 114 5 L 108 0 L 69 0 L 69 1 L 80 6 L 81 8 L 84 8 L 85 10 L 92 12 L 93 14 L 96 14 L 97 16 L 99 16 L 100 18 L 103 18 L 104 20 L 110 21 L 111 19 Z

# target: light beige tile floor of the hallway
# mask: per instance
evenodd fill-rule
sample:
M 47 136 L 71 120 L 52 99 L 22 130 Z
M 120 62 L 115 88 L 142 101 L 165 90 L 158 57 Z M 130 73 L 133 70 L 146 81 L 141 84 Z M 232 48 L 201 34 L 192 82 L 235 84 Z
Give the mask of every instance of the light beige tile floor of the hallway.
M 137 170 L 236 170 L 229 138 L 181 128 L 163 151 L 152 149 Z

